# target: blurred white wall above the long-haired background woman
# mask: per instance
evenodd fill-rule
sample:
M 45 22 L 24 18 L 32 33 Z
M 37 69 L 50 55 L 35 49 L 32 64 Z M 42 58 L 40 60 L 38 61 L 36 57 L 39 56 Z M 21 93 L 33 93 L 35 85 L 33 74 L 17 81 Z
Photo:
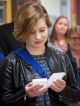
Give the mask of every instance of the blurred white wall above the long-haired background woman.
M 44 7 L 47 9 L 50 16 L 53 16 L 53 20 L 60 15 L 66 15 L 71 25 L 71 0 L 41 0 Z M 66 2 L 66 5 L 62 5 L 61 2 Z

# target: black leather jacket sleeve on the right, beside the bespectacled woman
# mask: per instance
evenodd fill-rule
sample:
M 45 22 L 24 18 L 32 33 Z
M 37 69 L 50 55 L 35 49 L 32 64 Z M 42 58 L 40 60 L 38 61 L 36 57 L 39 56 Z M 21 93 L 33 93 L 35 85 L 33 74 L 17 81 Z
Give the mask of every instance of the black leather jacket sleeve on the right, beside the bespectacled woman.
M 80 91 L 77 87 L 74 71 L 67 55 L 65 55 L 65 64 L 67 69 L 66 87 L 59 93 L 59 99 L 65 104 L 69 102 L 76 103 L 80 99 Z

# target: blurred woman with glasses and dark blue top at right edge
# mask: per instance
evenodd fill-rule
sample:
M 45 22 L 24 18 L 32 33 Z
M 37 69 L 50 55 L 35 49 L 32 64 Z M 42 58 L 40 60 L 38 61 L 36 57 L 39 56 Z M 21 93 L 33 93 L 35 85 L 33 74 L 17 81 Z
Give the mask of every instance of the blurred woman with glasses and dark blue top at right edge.
M 68 34 L 69 49 L 67 54 L 72 63 L 78 87 L 80 89 L 80 26 L 70 28 Z M 80 102 L 77 106 L 80 106 Z

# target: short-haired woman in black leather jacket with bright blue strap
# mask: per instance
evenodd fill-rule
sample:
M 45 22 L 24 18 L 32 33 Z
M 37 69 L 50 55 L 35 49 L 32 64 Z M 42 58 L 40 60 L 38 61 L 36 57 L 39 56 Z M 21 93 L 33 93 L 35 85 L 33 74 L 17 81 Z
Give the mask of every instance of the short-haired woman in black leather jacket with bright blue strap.
M 79 90 L 68 57 L 47 44 L 51 26 L 41 4 L 28 3 L 18 10 L 14 36 L 26 42 L 1 61 L 0 101 L 10 106 L 72 106 L 79 100 Z M 33 79 L 49 78 L 65 72 L 64 79 L 45 87 Z

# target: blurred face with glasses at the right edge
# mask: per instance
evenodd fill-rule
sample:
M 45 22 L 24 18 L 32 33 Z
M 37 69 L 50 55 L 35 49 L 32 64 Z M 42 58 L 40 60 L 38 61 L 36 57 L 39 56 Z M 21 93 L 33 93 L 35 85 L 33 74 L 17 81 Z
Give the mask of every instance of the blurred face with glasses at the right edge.
M 80 51 L 80 34 L 72 33 L 68 39 L 71 50 Z

